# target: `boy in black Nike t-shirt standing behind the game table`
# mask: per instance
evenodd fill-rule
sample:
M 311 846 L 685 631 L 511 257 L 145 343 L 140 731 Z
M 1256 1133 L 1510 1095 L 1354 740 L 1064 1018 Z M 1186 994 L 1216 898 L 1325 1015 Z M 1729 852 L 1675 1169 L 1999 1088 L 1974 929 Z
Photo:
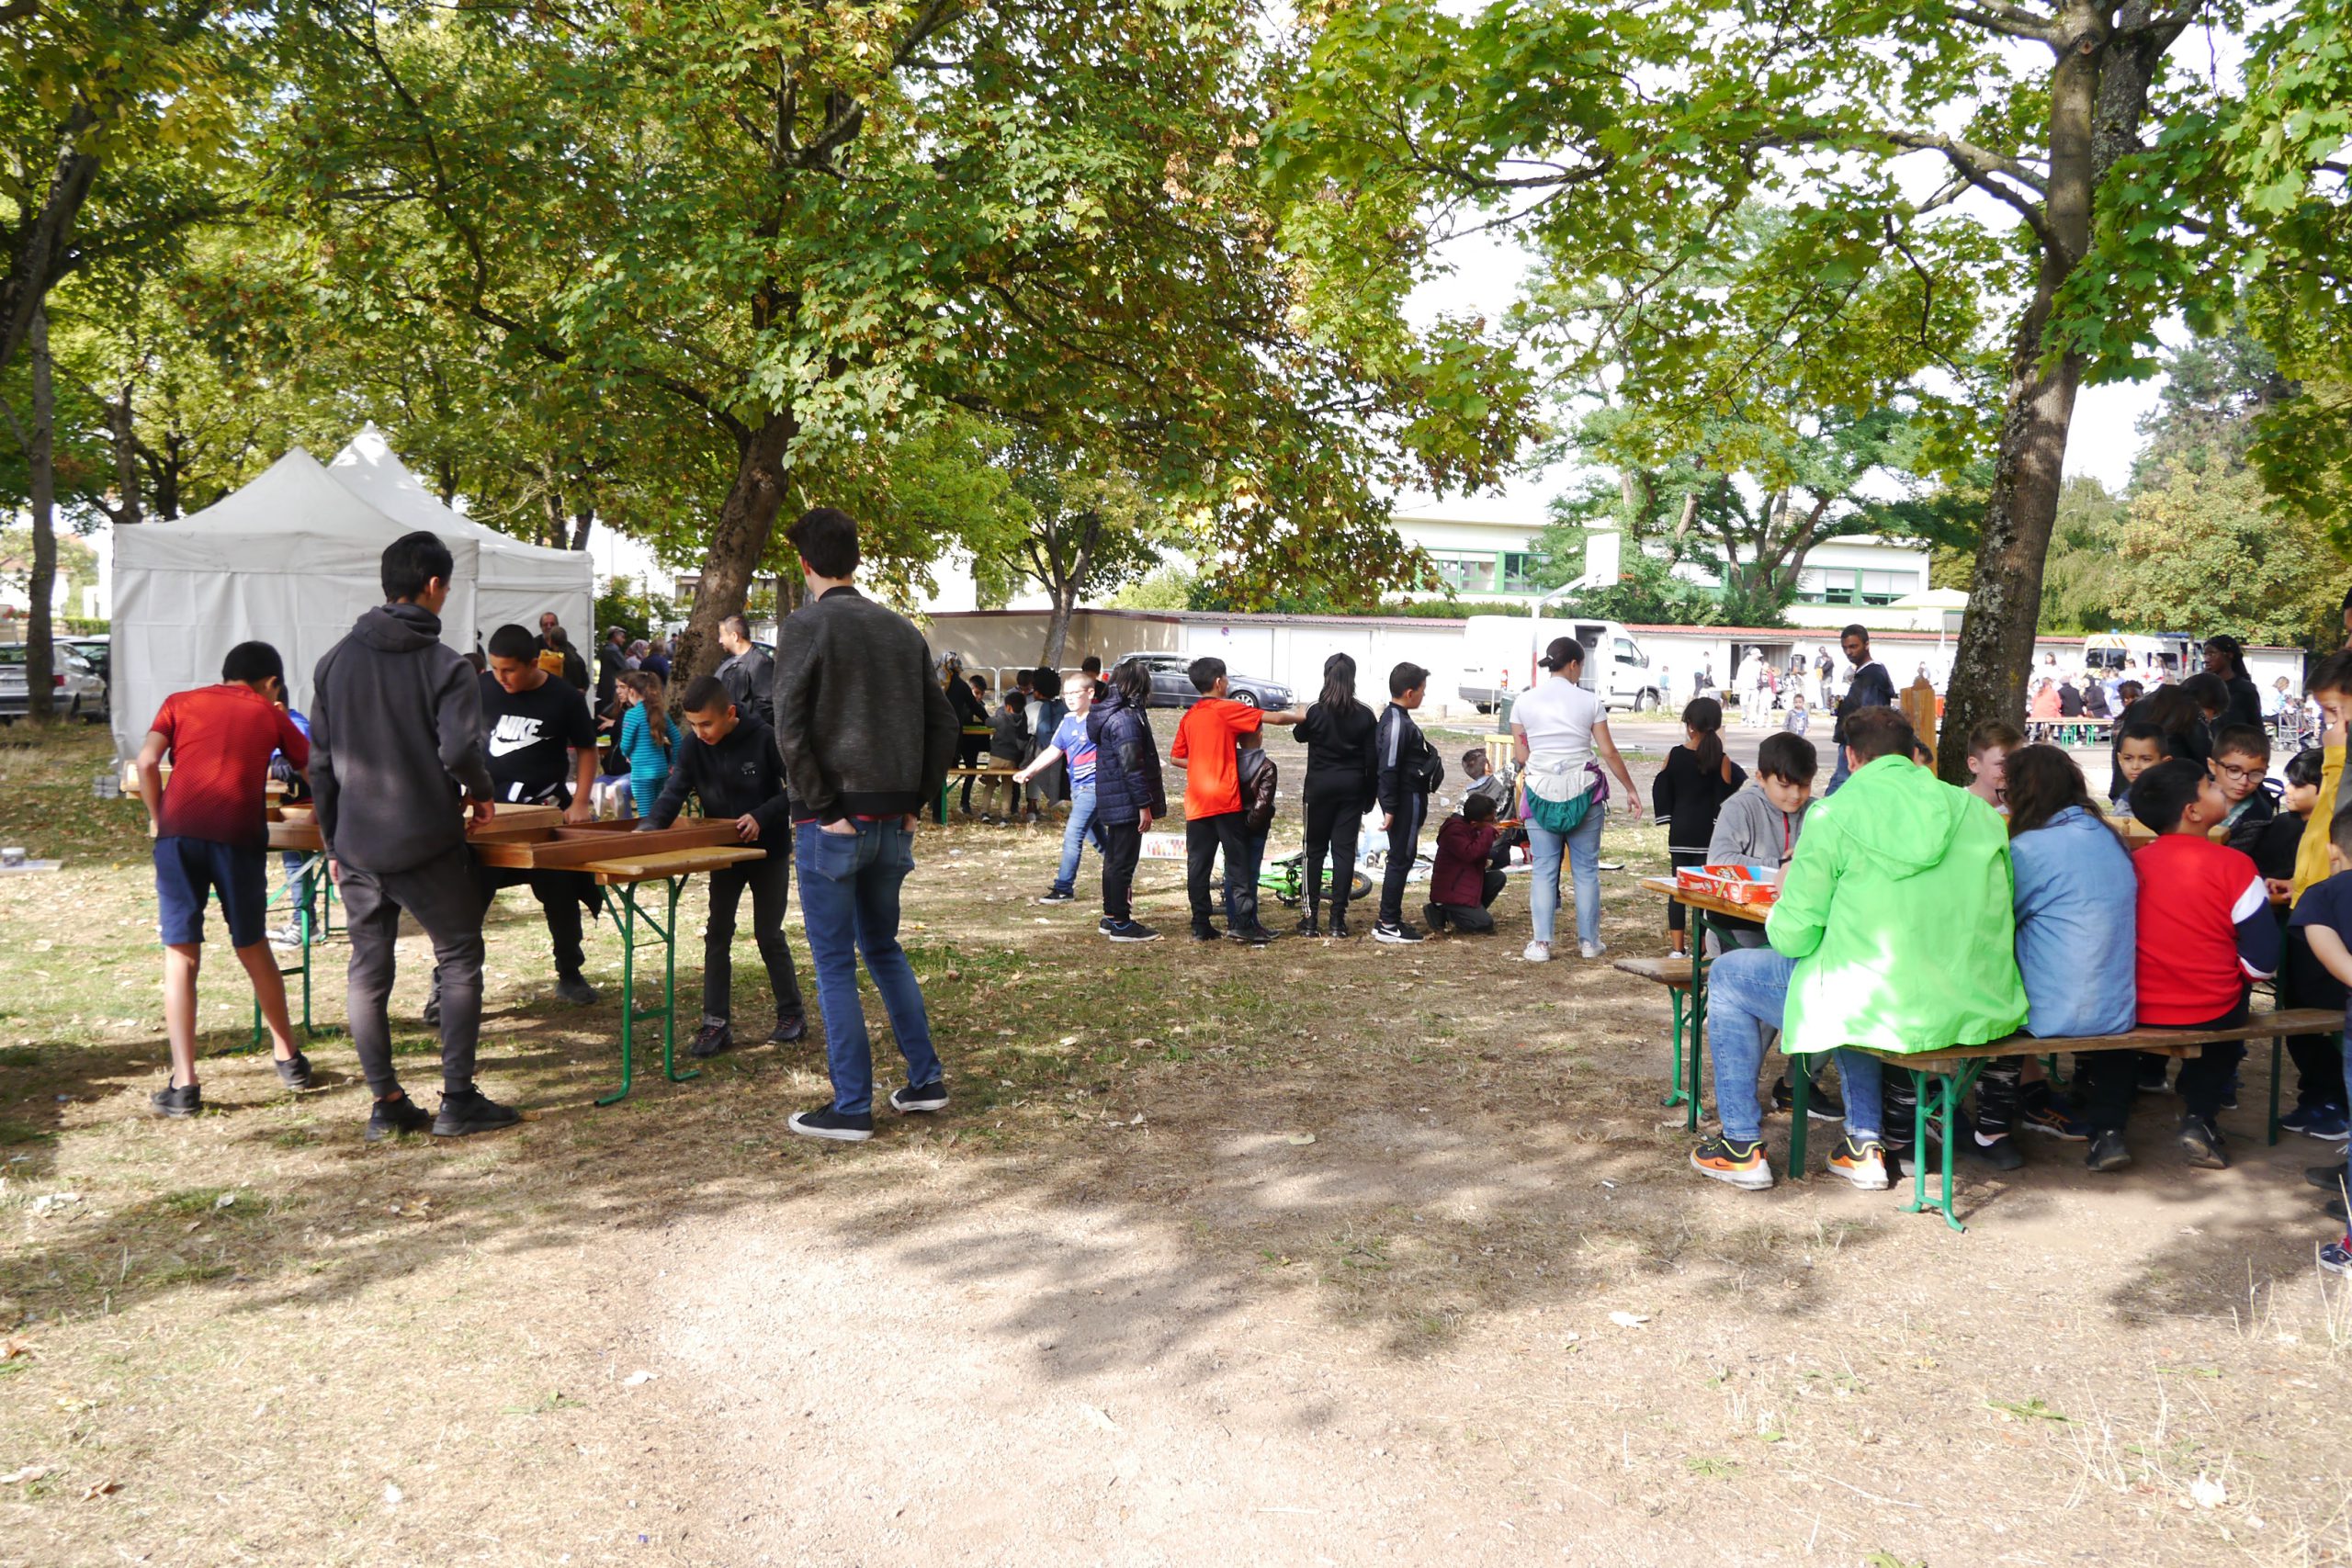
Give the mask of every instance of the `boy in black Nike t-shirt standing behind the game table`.
M 527 628 L 501 625 L 489 635 L 489 670 L 482 672 L 482 733 L 489 778 L 499 804 L 562 806 L 567 823 L 595 816 L 595 715 L 579 686 L 539 668 L 539 639 Z M 555 945 L 555 994 L 588 1006 L 595 987 L 581 976 L 581 907 L 602 910 L 604 896 L 586 872 L 494 870 L 477 865 L 487 903 L 515 884 L 548 917 Z

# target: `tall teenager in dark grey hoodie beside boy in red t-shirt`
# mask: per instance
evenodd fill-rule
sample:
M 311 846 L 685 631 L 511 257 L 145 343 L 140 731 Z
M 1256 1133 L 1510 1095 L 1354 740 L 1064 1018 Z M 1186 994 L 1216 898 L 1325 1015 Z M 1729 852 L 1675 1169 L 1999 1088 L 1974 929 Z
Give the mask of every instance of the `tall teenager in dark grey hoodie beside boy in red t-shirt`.
M 482 750 L 473 665 L 440 639 L 456 564 L 433 534 L 383 550 L 386 604 L 360 616 L 310 675 L 310 792 L 327 870 L 350 936 L 346 1013 L 376 1095 L 367 1138 L 433 1128 L 440 1138 L 520 1121 L 473 1086 L 482 1032 L 482 891 L 466 811 L 489 820 L 496 785 Z M 346 788 L 348 785 L 348 788 Z M 440 973 L 442 1103 L 428 1117 L 393 1072 L 393 943 L 407 912 L 433 938 Z

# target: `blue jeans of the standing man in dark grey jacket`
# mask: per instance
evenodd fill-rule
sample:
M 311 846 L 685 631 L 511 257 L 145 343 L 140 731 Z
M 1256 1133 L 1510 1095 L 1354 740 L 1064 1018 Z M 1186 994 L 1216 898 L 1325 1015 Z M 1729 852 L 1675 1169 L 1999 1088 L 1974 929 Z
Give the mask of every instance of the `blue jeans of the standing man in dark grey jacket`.
M 898 945 L 898 884 L 915 870 L 915 835 L 898 818 L 858 823 L 854 835 L 826 832 L 816 823 L 793 830 L 793 863 L 800 870 L 800 917 L 816 966 L 816 1006 L 826 1018 L 826 1067 L 833 1074 L 833 1110 L 866 1117 L 875 1107 L 875 1056 L 866 1039 L 858 1001 L 858 954 L 882 994 L 906 1081 L 924 1088 L 941 1081 L 931 1051 L 931 1020 L 922 1011 L 915 966 Z

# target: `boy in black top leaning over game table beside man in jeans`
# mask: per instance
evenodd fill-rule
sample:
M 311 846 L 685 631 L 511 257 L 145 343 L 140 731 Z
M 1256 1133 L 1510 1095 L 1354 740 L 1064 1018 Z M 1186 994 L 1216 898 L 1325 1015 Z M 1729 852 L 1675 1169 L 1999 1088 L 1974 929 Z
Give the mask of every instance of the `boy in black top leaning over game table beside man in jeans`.
M 710 919 L 703 924 L 703 1023 L 689 1046 L 694 1056 L 717 1056 L 734 1046 L 734 922 L 750 891 L 750 933 L 767 966 L 767 992 L 776 1004 L 776 1027 L 767 1044 L 788 1046 L 809 1032 L 800 1001 L 800 976 L 793 973 L 793 947 L 783 940 L 783 912 L 793 893 L 793 858 L 783 851 L 793 818 L 783 790 L 783 757 L 776 731 L 757 712 L 743 712 L 727 686 L 706 675 L 680 703 L 687 712 L 687 738 L 677 743 L 677 764 L 661 788 L 654 811 L 637 832 L 668 827 L 687 797 L 703 802 L 703 816 L 734 818 L 736 839 L 767 851 L 760 860 L 741 860 L 710 872 Z

